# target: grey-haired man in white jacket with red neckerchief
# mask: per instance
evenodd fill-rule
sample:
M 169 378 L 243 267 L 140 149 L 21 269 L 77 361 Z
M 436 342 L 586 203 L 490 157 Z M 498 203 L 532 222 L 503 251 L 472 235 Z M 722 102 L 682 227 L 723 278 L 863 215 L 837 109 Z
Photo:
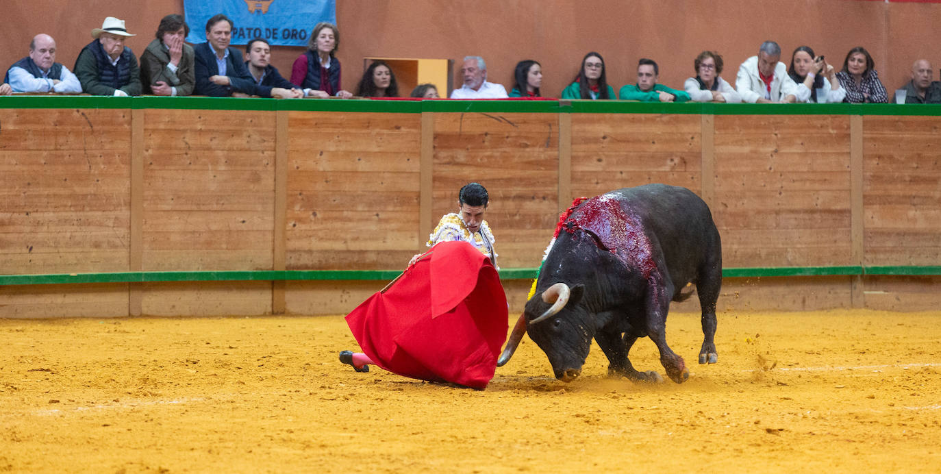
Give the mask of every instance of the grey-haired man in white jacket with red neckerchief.
M 781 62 L 781 47 L 774 41 L 765 41 L 742 66 L 735 79 L 735 89 L 746 103 L 794 102 L 797 87 L 788 75 L 788 67 Z

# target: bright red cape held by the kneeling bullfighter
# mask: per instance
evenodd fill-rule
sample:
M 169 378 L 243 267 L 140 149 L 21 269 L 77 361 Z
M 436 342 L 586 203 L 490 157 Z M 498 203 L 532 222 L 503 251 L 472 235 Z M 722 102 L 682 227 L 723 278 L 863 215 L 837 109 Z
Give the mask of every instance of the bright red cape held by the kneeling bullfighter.
M 485 388 L 508 329 L 497 270 L 466 242 L 442 242 L 385 293 L 346 316 L 375 365 L 421 380 Z

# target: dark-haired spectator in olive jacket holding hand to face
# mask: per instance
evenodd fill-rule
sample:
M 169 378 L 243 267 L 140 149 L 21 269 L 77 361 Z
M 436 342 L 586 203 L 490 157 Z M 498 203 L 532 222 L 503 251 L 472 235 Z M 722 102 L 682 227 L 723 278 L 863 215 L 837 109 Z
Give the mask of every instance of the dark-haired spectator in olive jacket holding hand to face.
M 189 25 L 181 15 L 167 15 L 157 25 L 155 40 L 140 55 L 140 82 L 154 95 L 185 96 L 193 93 L 196 75 L 193 47 L 183 42 Z

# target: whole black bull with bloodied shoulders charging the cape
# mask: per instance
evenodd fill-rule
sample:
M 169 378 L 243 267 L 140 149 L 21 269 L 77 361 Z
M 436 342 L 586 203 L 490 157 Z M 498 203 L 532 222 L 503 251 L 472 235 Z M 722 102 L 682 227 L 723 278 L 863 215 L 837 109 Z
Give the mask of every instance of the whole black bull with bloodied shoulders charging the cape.
M 681 383 L 689 371 L 666 345 L 666 314 L 671 300 L 690 296 L 682 292 L 690 282 L 702 308 L 699 363 L 712 364 L 722 244 L 706 203 L 664 184 L 588 199 L 562 225 L 498 365 L 526 331 L 549 356 L 556 378 L 567 382 L 581 373 L 594 338 L 608 356 L 609 375 L 659 382 L 656 371 L 636 371 L 628 359 L 634 341 L 647 336 L 667 375 Z

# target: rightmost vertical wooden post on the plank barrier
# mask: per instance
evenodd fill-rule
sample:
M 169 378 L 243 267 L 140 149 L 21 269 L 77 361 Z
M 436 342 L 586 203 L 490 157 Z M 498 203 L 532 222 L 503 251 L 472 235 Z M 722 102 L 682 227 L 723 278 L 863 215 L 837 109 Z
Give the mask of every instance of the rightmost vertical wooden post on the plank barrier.
M 863 116 L 850 116 L 850 238 L 853 265 L 863 261 Z M 853 308 L 866 307 L 863 277 L 853 276 Z

